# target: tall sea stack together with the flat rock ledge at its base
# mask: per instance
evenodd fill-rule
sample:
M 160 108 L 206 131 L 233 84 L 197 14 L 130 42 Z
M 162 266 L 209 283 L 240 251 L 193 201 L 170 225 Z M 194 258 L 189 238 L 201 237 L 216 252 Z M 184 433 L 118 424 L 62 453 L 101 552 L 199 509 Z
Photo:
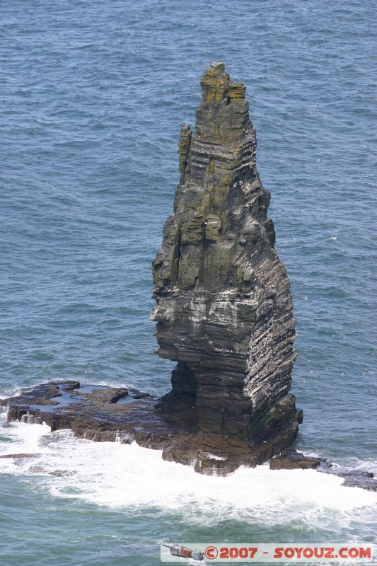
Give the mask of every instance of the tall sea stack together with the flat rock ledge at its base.
M 289 279 L 274 249 L 245 87 L 222 63 L 207 69 L 201 86 L 195 132 L 188 125 L 180 132 L 174 212 L 153 262 L 158 354 L 177 362 L 172 391 L 158 399 L 62 381 L 3 403 L 8 420 L 136 441 L 168 461 L 225 475 L 289 446 L 302 412 L 289 393 L 296 322 Z

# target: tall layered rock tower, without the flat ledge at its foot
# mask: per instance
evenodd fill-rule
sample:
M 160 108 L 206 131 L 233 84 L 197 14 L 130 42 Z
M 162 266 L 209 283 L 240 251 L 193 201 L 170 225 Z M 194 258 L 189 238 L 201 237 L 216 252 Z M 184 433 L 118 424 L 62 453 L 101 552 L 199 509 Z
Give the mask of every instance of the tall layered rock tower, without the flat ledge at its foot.
M 159 410 L 190 422 L 198 439 L 263 448 L 260 461 L 289 446 L 302 420 L 289 394 L 296 320 L 245 87 L 222 63 L 200 82 L 195 132 L 182 126 L 174 212 L 153 262 L 158 355 L 178 362 Z

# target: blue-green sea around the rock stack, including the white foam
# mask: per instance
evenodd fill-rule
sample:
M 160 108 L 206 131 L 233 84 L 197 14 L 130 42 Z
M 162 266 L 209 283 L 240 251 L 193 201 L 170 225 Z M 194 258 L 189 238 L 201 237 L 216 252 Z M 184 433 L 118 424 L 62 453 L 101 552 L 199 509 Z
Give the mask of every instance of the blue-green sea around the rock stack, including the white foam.
M 0 1 L 0 394 L 163 394 L 151 260 L 214 60 L 247 87 L 298 339 L 297 449 L 377 471 L 373 1 Z M 313 470 L 207 478 L 6 424 L 0 564 L 153 566 L 161 541 L 374 542 L 377 494 Z M 377 563 L 377 562 L 376 562 Z

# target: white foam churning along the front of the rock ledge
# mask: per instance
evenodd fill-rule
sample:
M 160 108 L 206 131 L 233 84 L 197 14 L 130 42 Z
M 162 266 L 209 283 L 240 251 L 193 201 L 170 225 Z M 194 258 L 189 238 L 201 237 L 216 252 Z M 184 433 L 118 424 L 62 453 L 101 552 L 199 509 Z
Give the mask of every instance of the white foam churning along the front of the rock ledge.
M 0 444 L 1 454 L 40 456 L 0 459 L 0 472 L 37 473 L 52 495 L 113 508 L 151 505 L 187 509 L 194 518 L 197 512 L 202 517 L 211 510 L 243 519 L 262 515 L 267 523 L 276 522 L 279 516 L 281 524 L 295 516 L 313 522 L 324 509 L 349 512 L 377 502 L 377 493 L 344 487 L 341 478 L 315 470 L 257 466 L 217 478 L 163 461 L 161 451 L 135 443 L 76 439 L 70 431 L 51 433 L 46 424 L 12 423 L 1 434 L 9 438 Z

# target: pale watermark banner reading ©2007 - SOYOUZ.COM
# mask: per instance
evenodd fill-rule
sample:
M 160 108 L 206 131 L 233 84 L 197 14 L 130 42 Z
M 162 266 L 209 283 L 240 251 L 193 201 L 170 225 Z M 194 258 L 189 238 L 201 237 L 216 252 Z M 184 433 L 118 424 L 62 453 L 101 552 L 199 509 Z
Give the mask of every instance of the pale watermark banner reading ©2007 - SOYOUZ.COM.
M 371 562 L 371 545 L 344 544 L 161 544 L 161 562 Z M 192 563 L 192 562 L 191 562 Z M 208 563 L 208 562 L 207 562 Z

